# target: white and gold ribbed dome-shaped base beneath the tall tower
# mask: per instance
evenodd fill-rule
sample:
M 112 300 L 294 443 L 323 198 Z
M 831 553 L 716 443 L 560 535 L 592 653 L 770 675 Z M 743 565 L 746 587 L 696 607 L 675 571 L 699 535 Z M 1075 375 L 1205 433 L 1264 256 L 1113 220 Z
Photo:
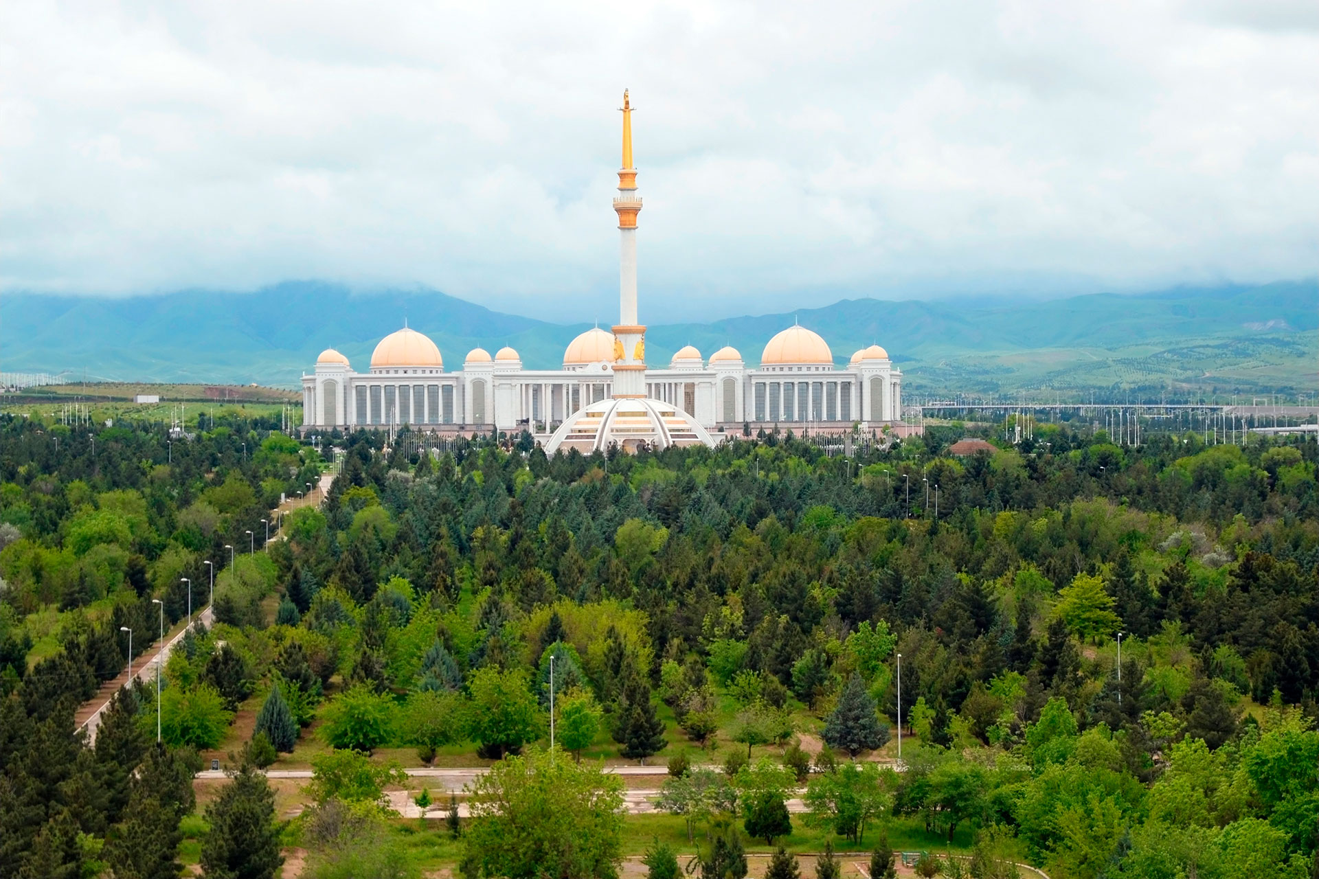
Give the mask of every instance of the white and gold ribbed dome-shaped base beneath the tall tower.
M 601 399 L 567 416 L 545 445 L 546 455 L 561 448 L 583 455 L 617 445 L 624 452 L 670 445 L 708 445 L 715 440 L 704 427 L 673 403 L 658 399 Z

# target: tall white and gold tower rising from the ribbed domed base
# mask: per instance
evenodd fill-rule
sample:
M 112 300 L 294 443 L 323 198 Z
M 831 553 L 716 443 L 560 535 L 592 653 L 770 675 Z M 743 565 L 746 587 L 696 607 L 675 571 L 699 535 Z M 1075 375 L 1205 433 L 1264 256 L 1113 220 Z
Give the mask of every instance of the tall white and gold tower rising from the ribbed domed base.
M 632 166 L 632 104 L 623 92 L 623 167 L 619 169 L 619 326 L 613 328 L 613 395 L 646 395 L 646 328 L 637 323 L 637 169 Z

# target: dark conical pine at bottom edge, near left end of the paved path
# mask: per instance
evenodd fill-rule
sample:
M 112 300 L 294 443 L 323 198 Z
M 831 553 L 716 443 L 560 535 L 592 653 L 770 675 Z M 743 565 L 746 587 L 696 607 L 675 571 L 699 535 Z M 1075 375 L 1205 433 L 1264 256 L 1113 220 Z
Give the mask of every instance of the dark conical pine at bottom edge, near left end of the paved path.
M 255 766 L 244 766 L 206 808 L 211 832 L 202 843 L 210 879 L 273 879 L 284 863 L 274 825 L 274 792 Z

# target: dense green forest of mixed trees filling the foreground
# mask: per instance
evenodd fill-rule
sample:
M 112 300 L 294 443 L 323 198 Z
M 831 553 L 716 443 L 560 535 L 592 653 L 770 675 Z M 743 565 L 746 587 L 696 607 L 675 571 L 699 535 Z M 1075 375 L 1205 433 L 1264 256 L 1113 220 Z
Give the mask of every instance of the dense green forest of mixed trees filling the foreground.
M 278 427 L 0 416 L 0 876 L 1319 875 L 1312 440 Z

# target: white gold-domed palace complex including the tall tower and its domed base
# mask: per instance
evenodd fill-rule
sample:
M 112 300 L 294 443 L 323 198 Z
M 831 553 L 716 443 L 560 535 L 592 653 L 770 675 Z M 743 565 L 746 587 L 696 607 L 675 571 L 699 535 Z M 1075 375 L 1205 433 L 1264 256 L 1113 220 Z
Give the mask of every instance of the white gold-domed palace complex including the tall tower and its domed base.
M 828 344 L 806 327 L 787 327 L 748 364 L 735 348 L 708 360 L 687 345 L 667 368 L 645 362 L 645 326 L 637 320 L 637 170 L 632 165 L 632 108 L 623 96 L 623 167 L 613 210 L 619 217 L 620 315 L 612 332 L 592 328 L 568 344 L 561 369 L 525 369 L 518 353 L 492 357 L 476 348 L 462 369 L 446 372 L 439 348 L 404 327 L 353 372 L 330 348 L 302 377 L 303 428 L 413 430 L 475 434 L 528 430 L 547 453 L 583 453 L 617 444 L 712 445 L 723 435 L 756 431 L 897 427 L 902 373 L 878 345 L 835 365 Z

